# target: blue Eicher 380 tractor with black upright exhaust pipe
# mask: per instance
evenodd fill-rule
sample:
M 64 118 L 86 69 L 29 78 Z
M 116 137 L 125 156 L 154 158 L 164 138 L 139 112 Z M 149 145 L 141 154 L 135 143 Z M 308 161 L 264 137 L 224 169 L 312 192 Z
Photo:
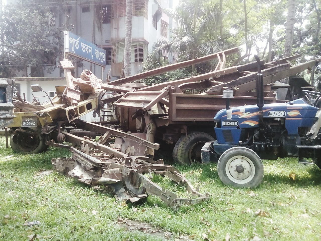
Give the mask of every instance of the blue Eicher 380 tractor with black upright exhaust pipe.
M 303 90 L 302 98 L 264 104 L 263 77 L 259 58 L 255 58 L 257 105 L 230 108 L 233 91 L 224 91 L 226 109 L 214 117 L 216 140 L 207 142 L 201 151 L 203 163 L 219 157 L 219 177 L 234 187 L 261 183 L 261 159 L 298 157 L 300 163 L 315 163 L 321 168 L 321 93 Z

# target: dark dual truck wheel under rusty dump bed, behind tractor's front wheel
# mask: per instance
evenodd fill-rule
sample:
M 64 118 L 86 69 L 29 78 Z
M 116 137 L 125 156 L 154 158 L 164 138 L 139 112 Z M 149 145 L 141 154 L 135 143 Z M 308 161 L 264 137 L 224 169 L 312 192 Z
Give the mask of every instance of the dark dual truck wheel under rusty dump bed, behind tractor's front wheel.
M 187 136 L 181 136 L 173 150 L 173 159 L 179 164 L 201 163 L 201 149 L 208 141 L 214 141 L 214 138 L 202 131 L 193 131 Z

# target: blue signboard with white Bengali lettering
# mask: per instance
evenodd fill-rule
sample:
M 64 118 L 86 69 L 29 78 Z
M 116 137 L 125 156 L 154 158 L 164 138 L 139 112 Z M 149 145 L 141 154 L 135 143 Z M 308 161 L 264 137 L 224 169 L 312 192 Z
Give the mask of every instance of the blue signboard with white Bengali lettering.
M 70 31 L 64 31 L 64 34 L 66 54 L 106 67 L 106 50 L 98 48 Z

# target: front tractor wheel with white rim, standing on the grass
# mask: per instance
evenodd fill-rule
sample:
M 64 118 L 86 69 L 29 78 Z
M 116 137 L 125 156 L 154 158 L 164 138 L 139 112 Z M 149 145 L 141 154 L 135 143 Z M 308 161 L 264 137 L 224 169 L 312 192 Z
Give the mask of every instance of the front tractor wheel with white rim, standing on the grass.
M 225 185 L 257 187 L 263 179 L 261 158 L 246 147 L 226 150 L 217 163 L 217 172 Z

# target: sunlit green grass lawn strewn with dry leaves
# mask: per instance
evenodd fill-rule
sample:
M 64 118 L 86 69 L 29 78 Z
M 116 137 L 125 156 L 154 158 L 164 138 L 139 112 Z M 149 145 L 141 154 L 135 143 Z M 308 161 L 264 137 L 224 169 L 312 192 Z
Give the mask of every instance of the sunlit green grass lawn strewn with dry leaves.
M 172 210 L 155 196 L 129 207 L 74 179 L 43 172 L 61 156 L 70 153 L 50 147 L 17 155 L 0 138 L 0 240 L 321 240 L 321 171 L 295 158 L 263 161 L 264 182 L 253 190 L 224 186 L 216 164 L 177 166 L 211 198 Z M 154 180 L 182 192 L 168 179 Z M 33 221 L 40 223 L 28 226 Z

